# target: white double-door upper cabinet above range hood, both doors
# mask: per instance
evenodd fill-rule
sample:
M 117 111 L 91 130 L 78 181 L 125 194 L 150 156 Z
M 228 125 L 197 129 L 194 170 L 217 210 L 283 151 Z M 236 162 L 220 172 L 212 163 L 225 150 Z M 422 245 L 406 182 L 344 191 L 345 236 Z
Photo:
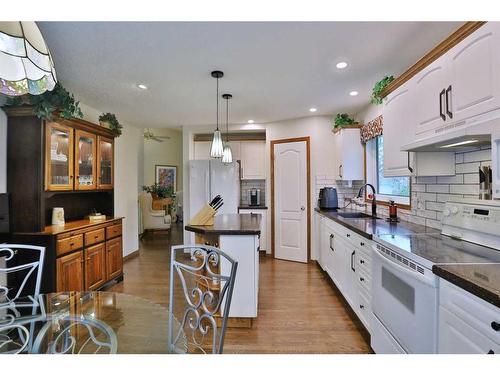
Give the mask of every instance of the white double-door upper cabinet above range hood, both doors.
M 488 22 L 415 77 L 415 140 L 500 108 L 500 23 Z

